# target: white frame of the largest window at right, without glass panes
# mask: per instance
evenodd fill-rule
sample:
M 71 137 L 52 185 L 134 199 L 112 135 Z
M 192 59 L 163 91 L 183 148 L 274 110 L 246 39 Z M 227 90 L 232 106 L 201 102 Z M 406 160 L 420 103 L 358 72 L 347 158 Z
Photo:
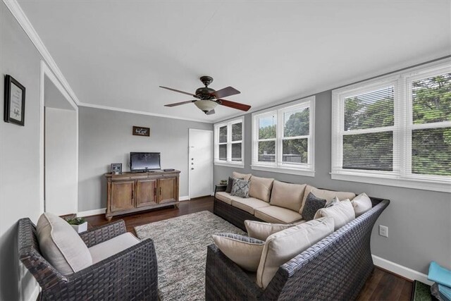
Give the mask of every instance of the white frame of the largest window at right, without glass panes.
M 421 190 L 451 192 L 451 177 L 419 175 L 412 173 L 412 130 L 423 128 L 445 128 L 451 121 L 440 123 L 413 124 L 412 121 L 412 81 L 433 75 L 450 73 L 451 60 L 431 63 L 426 66 L 411 68 L 392 75 L 359 82 L 342 87 L 332 92 L 332 164 L 330 176 L 334 180 L 378 185 L 399 186 Z M 394 120 L 393 125 L 393 171 L 366 171 L 342 168 L 342 137 L 344 128 L 344 99 L 353 94 L 394 85 Z M 368 130 L 350 130 L 348 132 L 373 133 L 377 128 Z

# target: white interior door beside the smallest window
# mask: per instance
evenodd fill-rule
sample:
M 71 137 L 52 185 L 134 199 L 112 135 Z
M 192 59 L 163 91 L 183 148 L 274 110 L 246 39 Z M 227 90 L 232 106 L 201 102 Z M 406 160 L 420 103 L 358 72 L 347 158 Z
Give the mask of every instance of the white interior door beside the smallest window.
M 213 131 L 190 128 L 190 199 L 213 191 Z

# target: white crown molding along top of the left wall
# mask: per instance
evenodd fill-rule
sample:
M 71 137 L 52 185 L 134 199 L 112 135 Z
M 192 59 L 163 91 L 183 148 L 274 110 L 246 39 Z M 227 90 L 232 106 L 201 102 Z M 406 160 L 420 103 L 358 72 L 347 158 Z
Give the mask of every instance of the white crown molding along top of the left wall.
M 58 68 L 58 65 L 56 65 L 56 62 L 51 57 L 50 52 L 47 50 L 47 47 L 45 47 L 44 42 L 42 42 L 42 39 L 37 34 L 35 27 L 33 27 L 30 20 L 28 20 L 27 16 L 25 15 L 25 12 L 18 4 L 18 1 L 17 0 L 3 0 L 3 1 L 6 7 L 9 9 L 9 11 L 11 11 L 11 13 L 13 14 L 14 18 L 16 18 L 16 20 L 18 21 L 20 27 L 23 28 L 25 34 L 30 38 L 31 42 L 35 45 L 37 51 L 39 51 L 39 54 L 42 55 L 42 58 L 49 66 L 50 70 L 54 73 L 56 78 L 58 78 L 59 82 L 61 82 L 61 85 L 63 85 L 66 92 L 68 92 L 70 98 L 73 99 L 75 104 L 79 105 L 80 101 L 78 100 L 77 95 L 75 95 L 75 92 L 73 92 L 68 81 L 61 72 L 60 68 Z

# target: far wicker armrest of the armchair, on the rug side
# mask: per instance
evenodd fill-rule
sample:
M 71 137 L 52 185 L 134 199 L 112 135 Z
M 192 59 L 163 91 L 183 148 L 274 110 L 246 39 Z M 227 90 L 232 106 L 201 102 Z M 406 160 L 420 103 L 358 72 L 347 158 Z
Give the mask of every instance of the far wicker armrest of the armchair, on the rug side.
M 80 233 L 80 238 L 82 238 L 87 247 L 92 247 L 93 245 L 97 245 L 106 240 L 111 240 L 111 238 L 115 238 L 116 236 L 126 232 L 127 229 L 125 228 L 125 222 L 121 219 L 119 221 L 107 223 L 104 226 L 92 228 L 88 231 L 82 232 Z

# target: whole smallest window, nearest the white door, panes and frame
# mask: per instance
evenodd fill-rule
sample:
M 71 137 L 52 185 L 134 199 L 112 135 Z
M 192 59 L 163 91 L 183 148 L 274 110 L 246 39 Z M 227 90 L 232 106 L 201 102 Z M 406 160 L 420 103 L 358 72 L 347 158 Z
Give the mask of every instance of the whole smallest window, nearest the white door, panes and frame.
M 243 158 L 244 118 L 214 125 L 214 163 L 244 167 Z

